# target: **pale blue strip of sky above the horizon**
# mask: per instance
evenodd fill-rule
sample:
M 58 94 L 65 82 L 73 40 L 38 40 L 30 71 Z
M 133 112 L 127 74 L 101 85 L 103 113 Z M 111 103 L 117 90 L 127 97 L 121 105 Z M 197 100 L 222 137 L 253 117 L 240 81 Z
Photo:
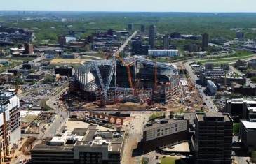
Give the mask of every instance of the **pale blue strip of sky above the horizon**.
M 0 10 L 256 12 L 256 0 L 1 0 Z

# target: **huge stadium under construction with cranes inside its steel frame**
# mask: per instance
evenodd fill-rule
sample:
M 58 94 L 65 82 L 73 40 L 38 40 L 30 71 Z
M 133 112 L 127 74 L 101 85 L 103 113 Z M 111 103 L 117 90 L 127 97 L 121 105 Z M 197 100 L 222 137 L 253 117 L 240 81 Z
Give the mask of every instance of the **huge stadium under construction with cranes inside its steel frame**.
M 168 102 L 179 86 L 177 68 L 144 57 L 86 62 L 74 74 L 76 94 L 87 100 Z M 73 90 L 73 89 L 72 89 Z

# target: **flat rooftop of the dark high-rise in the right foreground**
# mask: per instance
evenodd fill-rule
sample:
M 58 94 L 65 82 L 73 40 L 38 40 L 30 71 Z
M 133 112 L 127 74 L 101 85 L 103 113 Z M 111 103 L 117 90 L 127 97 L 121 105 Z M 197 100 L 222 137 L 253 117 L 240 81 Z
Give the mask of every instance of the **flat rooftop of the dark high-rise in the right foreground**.
M 196 113 L 198 121 L 233 121 L 227 113 Z

